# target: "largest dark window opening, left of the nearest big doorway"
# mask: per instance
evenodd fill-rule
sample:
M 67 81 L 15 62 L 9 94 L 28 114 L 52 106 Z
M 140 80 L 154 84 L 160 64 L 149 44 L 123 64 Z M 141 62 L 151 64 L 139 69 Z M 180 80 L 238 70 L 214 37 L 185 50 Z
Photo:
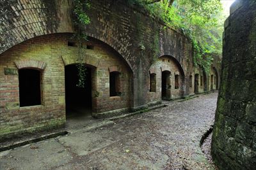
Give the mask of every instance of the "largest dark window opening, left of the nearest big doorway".
M 20 107 L 41 104 L 41 72 L 36 69 L 19 69 Z

